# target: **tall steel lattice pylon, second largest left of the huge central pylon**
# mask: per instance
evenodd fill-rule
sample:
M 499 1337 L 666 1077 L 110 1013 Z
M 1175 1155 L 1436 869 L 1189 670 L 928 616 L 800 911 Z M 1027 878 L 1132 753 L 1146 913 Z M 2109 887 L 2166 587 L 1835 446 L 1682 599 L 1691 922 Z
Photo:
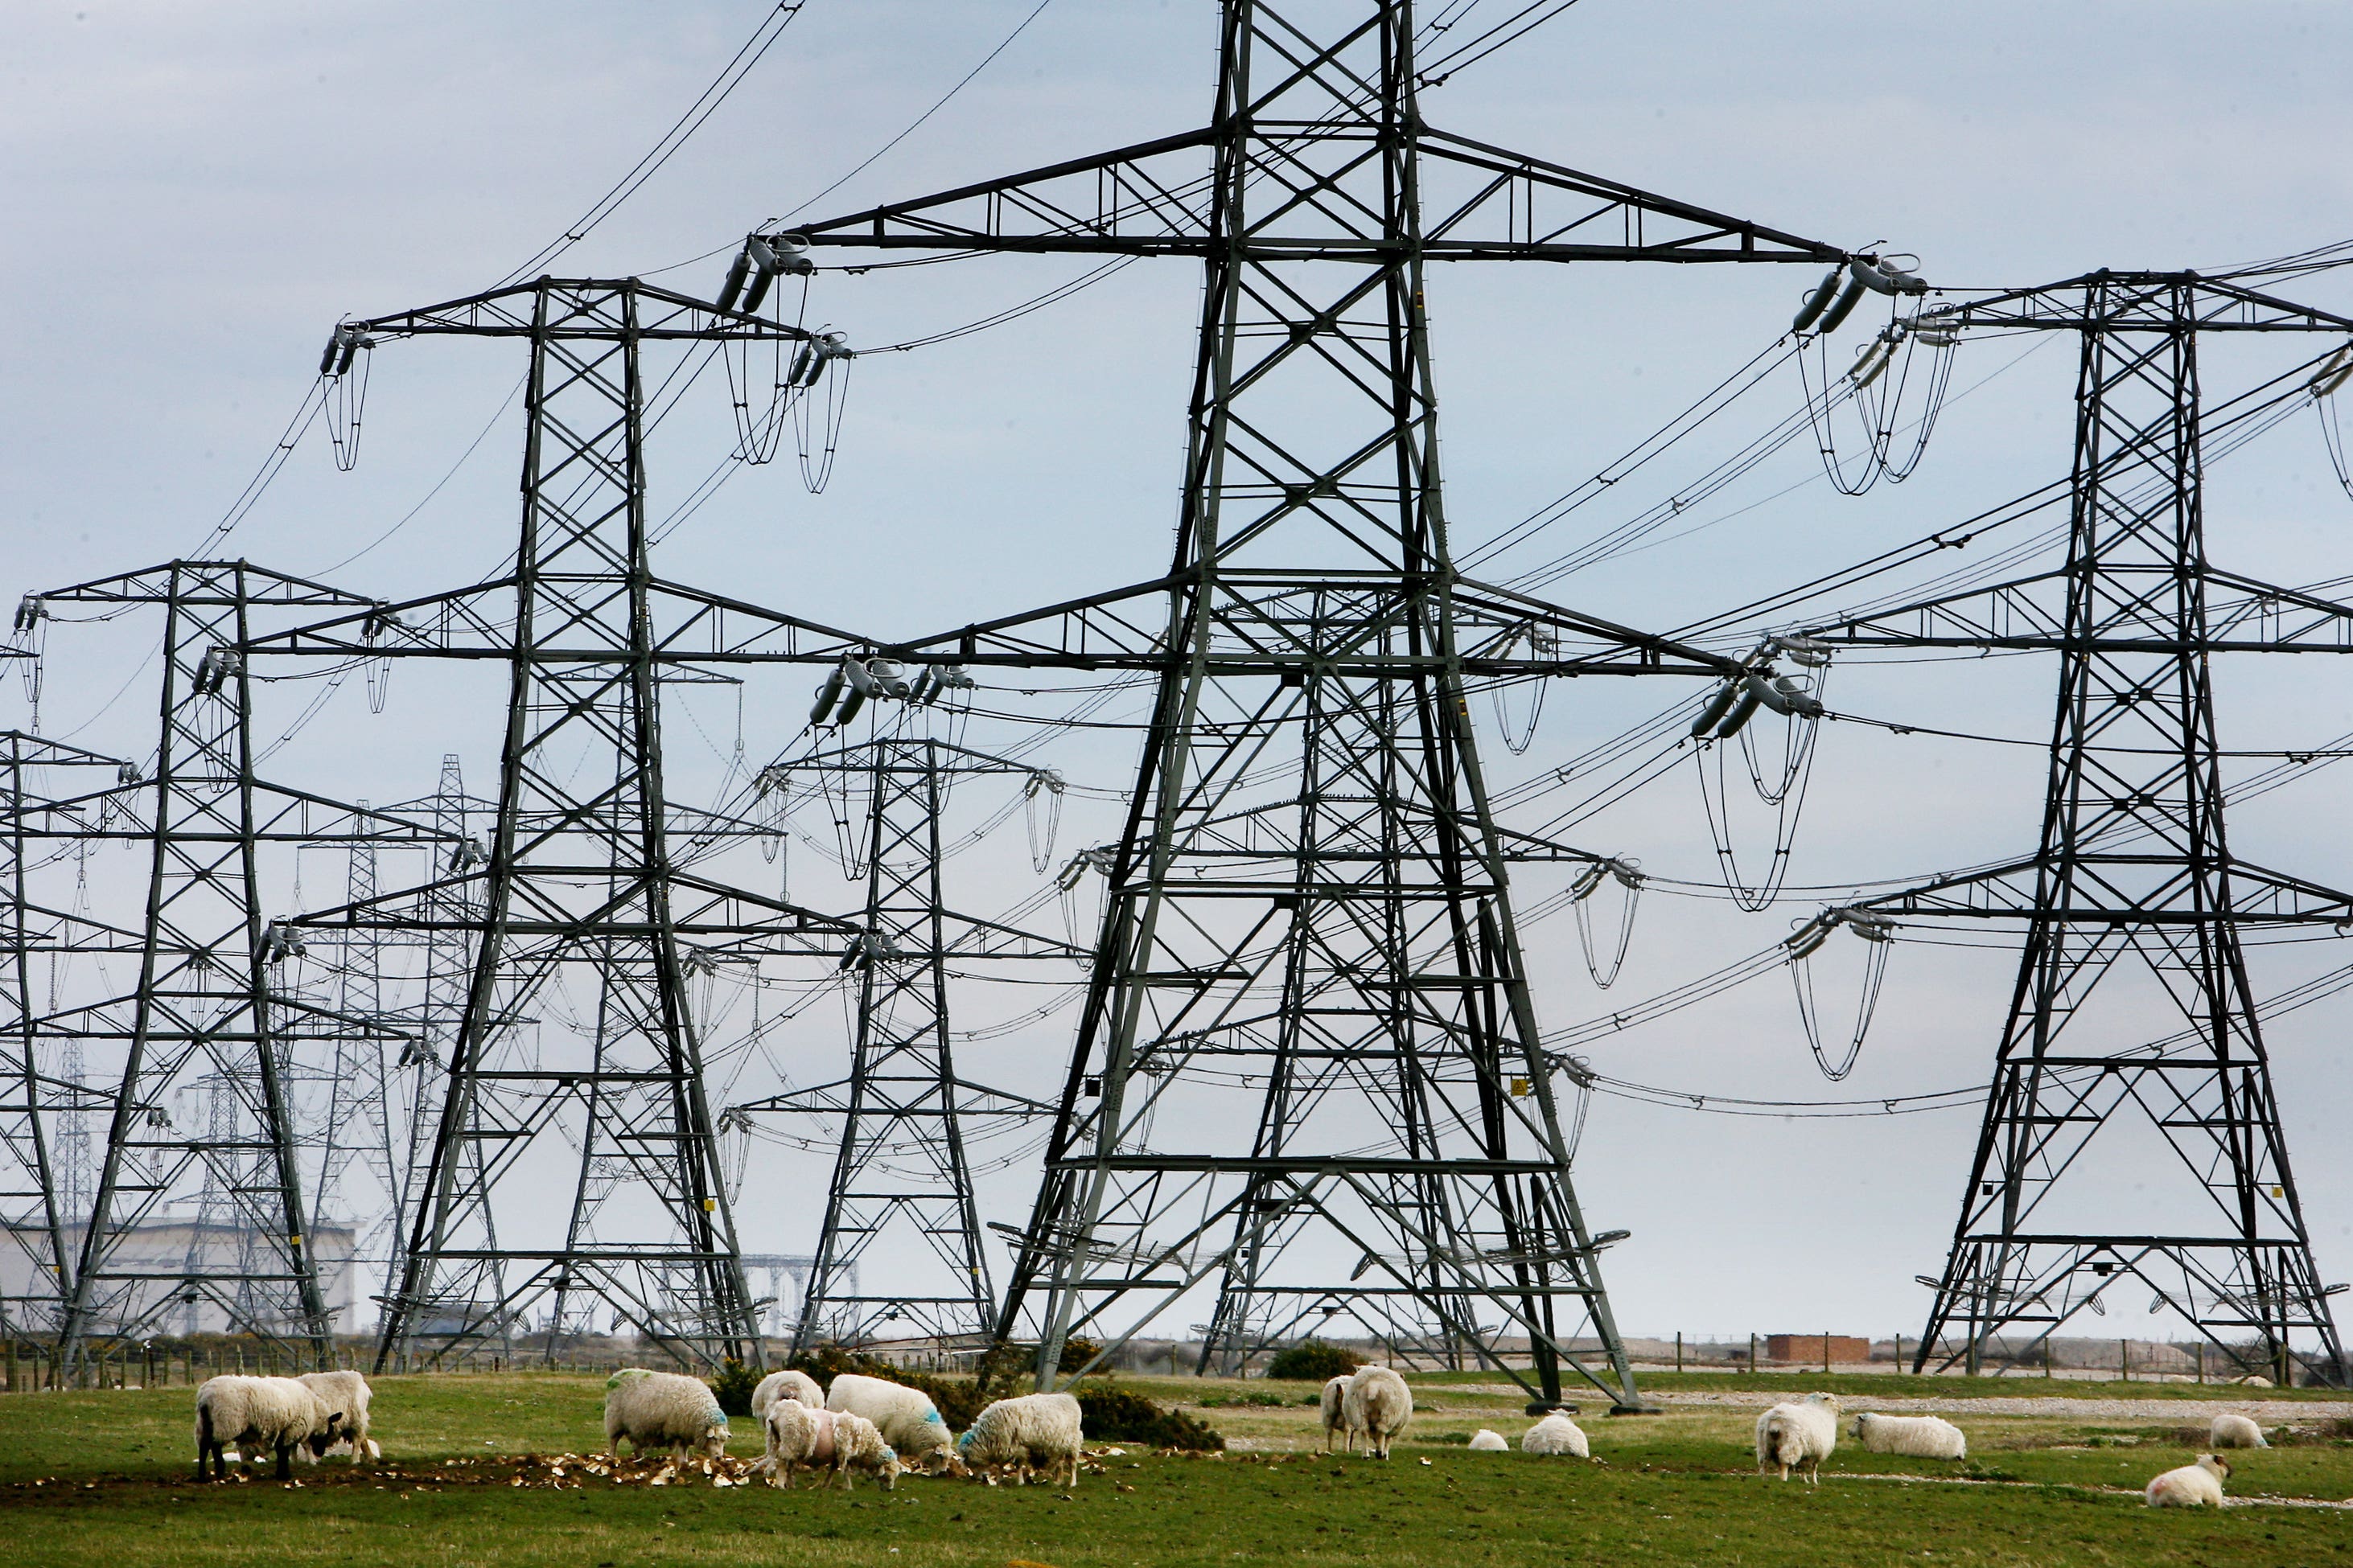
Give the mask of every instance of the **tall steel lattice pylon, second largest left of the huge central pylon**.
M 532 360 L 513 569 L 252 644 L 511 670 L 485 860 L 313 917 L 475 943 L 379 1366 L 499 1347 L 534 1312 L 558 1335 L 598 1309 L 678 1359 L 758 1363 L 685 966 L 689 945 L 807 952 L 812 933 L 849 926 L 699 875 L 673 849 L 736 825 L 668 802 L 659 686 L 694 679 L 701 654 L 788 658 L 802 628 L 654 578 L 640 360 L 649 343 L 809 334 L 638 280 L 541 277 L 346 324 L 339 341 L 386 336 L 511 336 Z M 461 884 L 464 910 L 435 905 Z M 569 1194 L 555 1225 L 548 1182 Z

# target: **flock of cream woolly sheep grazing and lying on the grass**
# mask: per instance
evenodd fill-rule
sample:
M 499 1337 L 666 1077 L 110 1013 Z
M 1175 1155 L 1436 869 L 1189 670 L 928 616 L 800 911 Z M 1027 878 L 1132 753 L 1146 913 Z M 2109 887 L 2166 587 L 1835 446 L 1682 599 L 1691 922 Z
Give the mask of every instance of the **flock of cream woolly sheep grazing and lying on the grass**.
M 360 1373 L 212 1378 L 195 1392 L 195 1479 L 207 1479 L 207 1465 L 226 1476 L 228 1462 L 240 1455 L 275 1453 L 280 1481 L 292 1474 L 296 1453 L 322 1460 L 348 1446 L 355 1465 L 381 1458 L 367 1436 L 367 1401 Z M 1355 1441 L 1365 1439 L 1365 1450 L 1386 1460 L 1391 1441 L 1414 1418 L 1414 1392 L 1386 1366 L 1332 1378 L 1320 1403 L 1325 1453 L 1337 1441 L 1355 1453 Z M 760 1380 L 751 1410 L 765 1436 L 758 1467 L 769 1486 L 791 1486 L 800 1469 L 824 1476 L 826 1486 L 838 1479 L 845 1490 L 856 1486 L 854 1474 L 868 1474 L 889 1490 L 908 1469 L 991 1476 L 1007 1469 L 1024 1486 L 1038 1474 L 1078 1486 L 1085 1446 L 1080 1408 L 1068 1394 L 1000 1399 L 962 1436 L 953 1436 L 922 1389 L 842 1373 L 828 1392 L 807 1373 L 786 1371 Z M 1838 1448 L 1838 1394 L 1772 1406 L 1758 1415 L 1758 1469 L 1779 1469 L 1784 1481 L 1798 1469 L 1819 1486 L 1821 1462 Z M 1939 1415 L 1866 1410 L 1854 1418 L 1854 1436 L 1868 1453 L 1969 1458 L 1969 1439 Z M 727 1413 L 701 1378 L 626 1368 L 605 1380 L 605 1450 L 619 1455 L 624 1439 L 640 1458 L 664 1450 L 720 1460 L 727 1455 Z M 2214 1448 L 2266 1448 L 2264 1429 L 2245 1415 L 2217 1415 L 2207 1441 Z M 1480 1429 L 1471 1448 L 1499 1453 L 1508 1443 L 1499 1432 Z M 1584 1429 L 1558 1410 L 1520 1436 L 1520 1450 L 1591 1458 Z M 2202 1453 L 2195 1465 L 2155 1476 L 2144 1500 L 2148 1507 L 2221 1507 L 2228 1474 L 2226 1460 Z

